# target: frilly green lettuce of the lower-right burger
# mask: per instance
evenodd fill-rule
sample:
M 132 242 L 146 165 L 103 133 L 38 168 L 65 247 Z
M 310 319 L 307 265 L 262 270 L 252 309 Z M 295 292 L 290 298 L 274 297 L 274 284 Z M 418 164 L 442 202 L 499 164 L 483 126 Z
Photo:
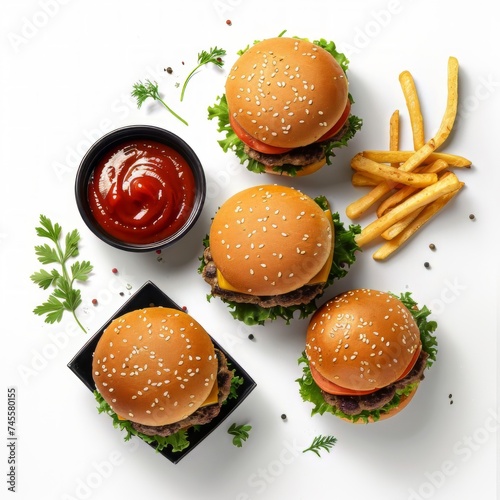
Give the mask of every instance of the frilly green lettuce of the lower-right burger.
M 396 295 L 395 295 L 396 296 Z M 412 299 L 411 293 L 407 292 L 396 296 L 401 300 L 406 307 L 410 310 L 413 317 L 415 318 L 417 325 L 420 330 L 420 339 L 422 341 L 422 349 L 429 355 L 427 360 L 427 368 L 429 368 L 432 363 L 436 360 L 437 354 L 437 340 L 433 335 L 433 332 L 437 328 L 437 323 L 435 321 L 427 321 L 427 317 L 430 314 L 429 309 L 423 306 L 421 309 L 418 308 L 417 303 Z M 299 384 L 299 393 L 302 399 L 306 402 L 312 403 L 313 409 L 311 410 L 312 415 L 323 415 L 324 413 L 331 413 L 340 418 L 351 420 L 352 422 L 368 422 L 371 418 L 374 421 L 380 419 L 380 416 L 387 413 L 392 408 L 399 405 L 401 398 L 410 394 L 413 389 L 415 389 L 420 382 L 415 382 L 413 384 L 408 384 L 403 389 L 398 389 L 394 397 L 382 408 L 377 410 L 363 410 L 357 415 L 347 415 L 337 407 L 328 404 L 321 393 L 321 389 L 318 387 L 311 375 L 311 370 L 309 368 L 309 361 L 305 352 L 302 353 L 298 359 L 298 364 L 302 366 L 302 377 L 298 378 L 296 382 Z

